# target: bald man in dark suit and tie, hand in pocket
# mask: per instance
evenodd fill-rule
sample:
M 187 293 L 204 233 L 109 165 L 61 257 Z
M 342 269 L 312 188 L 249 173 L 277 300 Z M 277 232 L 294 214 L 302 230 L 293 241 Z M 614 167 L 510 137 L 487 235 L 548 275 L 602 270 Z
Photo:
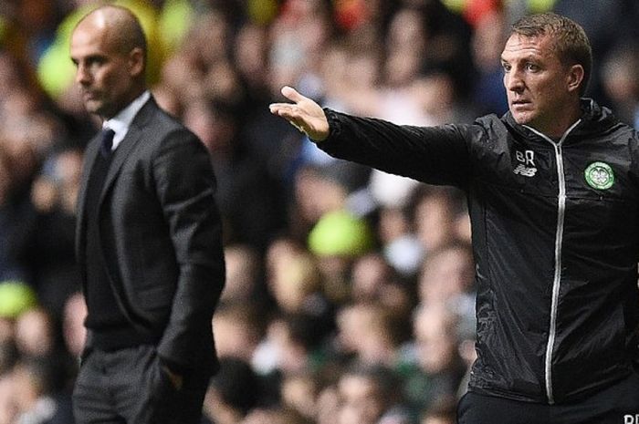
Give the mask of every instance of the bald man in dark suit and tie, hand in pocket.
M 146 89 L 146 51 L 138 20 L 113 5 L 71 37 L 82 100 L 103 119 L 79 192 L 89 310 L 79 423 L 196 423 L 218 367 L 211 319 L 225 264 L 215 177 L 204 145 Z

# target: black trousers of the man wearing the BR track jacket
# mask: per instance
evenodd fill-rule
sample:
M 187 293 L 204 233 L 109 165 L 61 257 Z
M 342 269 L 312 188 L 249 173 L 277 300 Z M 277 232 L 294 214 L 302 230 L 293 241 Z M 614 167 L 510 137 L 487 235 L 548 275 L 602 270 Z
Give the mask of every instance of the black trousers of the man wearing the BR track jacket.
M 546 405 L 466 393 L 458 424 L 639 424 L 639 375 L 578 402 Z

